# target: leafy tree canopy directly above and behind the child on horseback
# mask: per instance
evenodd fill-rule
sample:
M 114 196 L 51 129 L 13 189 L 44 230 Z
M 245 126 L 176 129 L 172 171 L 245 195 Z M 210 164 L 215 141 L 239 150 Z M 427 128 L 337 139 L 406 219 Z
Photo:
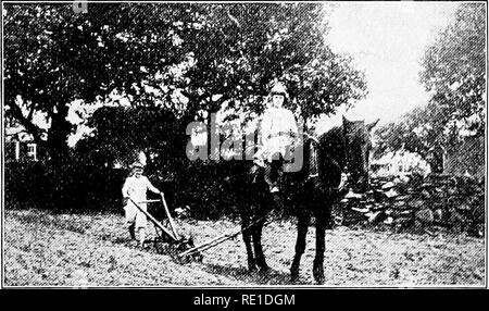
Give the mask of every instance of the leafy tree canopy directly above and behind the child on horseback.
M 187 41 L 196 64 L 181 86 L 186 96 L 201 100 L 199 109 L 215 112 L 227 102 L 230 109 L 261 112 L 274 79 L 287 84 L 292 105 L 301 105 L 305 117 L 331 112 L 365 95 L 363 74 L 351 67 L 351 59 L 333 53 L 325 41 L 324 4 L 208 8 L 202 32 Z

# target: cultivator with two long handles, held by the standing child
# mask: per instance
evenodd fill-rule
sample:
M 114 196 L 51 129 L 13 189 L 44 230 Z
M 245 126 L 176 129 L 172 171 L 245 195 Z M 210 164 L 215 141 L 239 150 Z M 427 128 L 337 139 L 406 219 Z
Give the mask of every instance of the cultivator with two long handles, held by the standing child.
M 163 194 L 161 195 L 160 200 L 146 200 L 139 202 L 136 202 L 133 198 L 129 198 L 129 200 L 154 224 L 156 236 L 153 239 L 147 240 L 147 242 L 152 244 L 158 253 L 170 254 L 180 262 L 188 262 L 192 260 L 202 261 L 202 254 L 200 251 L 192 252 L 191 254 L 185 257 L 179 256 L 181 252 L 195 249 L 193 239 L 191 237 L 187 238 L 177 233 L 176 224 L 170 214 L 168 206 L 166 204 Z M 168 220 L 170 229 L 140 206 L 142 203 L 154 202 L 161 202 L 163 204 Z

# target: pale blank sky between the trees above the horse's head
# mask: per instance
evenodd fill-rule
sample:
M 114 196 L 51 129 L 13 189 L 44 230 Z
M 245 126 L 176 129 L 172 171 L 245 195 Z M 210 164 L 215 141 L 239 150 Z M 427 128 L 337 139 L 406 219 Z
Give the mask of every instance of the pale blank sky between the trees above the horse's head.
M 418 80 L 421 59 L 457 3 L 336 2 L 334 7 L 327 40 L 335 52 L 354 58 L 354 65 L 365 72 L 369 94 L 353 109 L 341 109 L 327 120 L 337 122 L 344 114 L 366 122 L 379 117 L 379 124 L 386 124 L 426 103 L 429 97 Z

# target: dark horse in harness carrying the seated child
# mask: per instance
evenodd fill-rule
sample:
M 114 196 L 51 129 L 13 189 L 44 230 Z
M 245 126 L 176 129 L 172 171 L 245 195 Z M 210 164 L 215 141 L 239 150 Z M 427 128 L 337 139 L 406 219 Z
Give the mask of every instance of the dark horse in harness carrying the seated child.
M 305 250 L 305 236 L 311 216 L 315 217 L 316 256 L 313 274 L 316 283 L 324 283 L 325 231 L 330 226 L 331 204 L 340 195 L 341 174 L 348 171 L 349 185 L 354 191 L 364 191 L 368 184 L 368 154 L 372 147 L 369 132 L 377 122 L 366 125 L 343 117 L 342 125 L 323 134 L 319 138 L 303 139 L 303 165 L 296 173 L 283 175 L 280 195 L 268 192 L 264 169 L 247 163 L 244 174 L 238 179 L 239 210 L 242 238 L 248 252 L 250 271 L 266 272 L 268 265 L 263 254 L 261 237 L 267 213 L 274 208 L 290 209 L 298 216 L 296 256 L 290 273 L 291 281 L 299 277 L 301 256 Z M 251 166 L 251 167 L 250 167 Z M 275 197 L 273 197 L 275 196 Z

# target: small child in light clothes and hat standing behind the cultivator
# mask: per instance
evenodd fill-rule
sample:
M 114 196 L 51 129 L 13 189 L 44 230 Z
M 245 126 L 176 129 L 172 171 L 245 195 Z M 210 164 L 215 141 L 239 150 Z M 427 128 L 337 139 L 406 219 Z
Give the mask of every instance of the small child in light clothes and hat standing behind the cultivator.
M 147 227 L 147 217 L 146 215 L 139 211 L 139 209 L 129 200 L 131 198 L 139 207 L 141 207 L 145 211 L 147 210 L 147 203 L 141 202 L 146 201 L 146 192 L 148 190 L 154 194 L 161 194 L 159 189 L 156 189 L 148 179 L 148 177 L 142 175 L 143 165 L 141 163 L 133 164 L 133 174 L 126 178 L 124 183 L 122 192 L 125 201 L 127 203 L 124 207 L 126 223 L 129 227 L 130 237 L 136 239 L 135 229 L 138 231 L 139 235 L 139 244 L 141 247 L 145 245 L 146 239 L 146 227 Z M 141 203 L 139 203 L 141 202 Z

